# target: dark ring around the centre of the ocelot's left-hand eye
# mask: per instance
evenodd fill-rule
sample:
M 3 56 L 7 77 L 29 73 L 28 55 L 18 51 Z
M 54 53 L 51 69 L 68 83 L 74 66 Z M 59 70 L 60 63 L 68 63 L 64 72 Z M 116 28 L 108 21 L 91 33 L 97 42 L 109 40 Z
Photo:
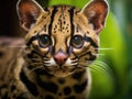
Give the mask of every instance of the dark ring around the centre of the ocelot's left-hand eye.
M 42 42 L 42 38 L 41 37 L 44 37 L 44 36 L 47 36 L 47 38 L 48 38 L 48 44 L 43 44 L 43 42 Z M 50 35 L 47 35 L 47 34 L 43 34 L 43 35 L 38 35 L 38 45 L 41 46 L 41 47 L 44 47 L 44 48 L 46 48 L 46 47 L 48 47 L 50 45 L 52 45 L 52 38 L 50 37 Z

